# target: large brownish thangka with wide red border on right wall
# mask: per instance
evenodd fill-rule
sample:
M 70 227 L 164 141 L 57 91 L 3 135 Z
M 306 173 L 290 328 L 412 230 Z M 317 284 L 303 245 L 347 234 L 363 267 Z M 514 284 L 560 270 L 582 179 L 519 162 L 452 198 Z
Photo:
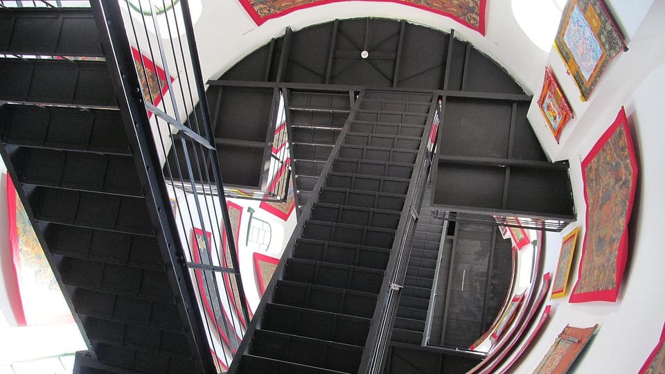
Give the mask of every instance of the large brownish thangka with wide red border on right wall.
M 582 161 L 587 204 L 582 259 L 569 301 L 616 301 L 628 257 L 637 159 L 623 108 Z

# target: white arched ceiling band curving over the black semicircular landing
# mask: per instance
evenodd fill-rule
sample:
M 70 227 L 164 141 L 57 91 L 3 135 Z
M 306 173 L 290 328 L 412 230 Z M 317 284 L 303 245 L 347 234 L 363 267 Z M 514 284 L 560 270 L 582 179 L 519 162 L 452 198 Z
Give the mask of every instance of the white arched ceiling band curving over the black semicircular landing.
M 405 19 L 409 23 L 455 35 L 471 42 L 502 66 L 529 94 L 542 80 L 547 53 L 538 48 L 517 25 L 511 0 L 488 1 L 486 35 L 443 15 L 386 1 L 344 1 L 327 3 L 291 12 L 257 26 L 240 1 L 203 2 L 202 15 L 195 25 L 204 78 L 216 78 L 256 48 L 284 34 L 335 19 L 379 17 Z M 213 31 L 214 30 L 214 31 Z M 432 46 L 436 48 L 436 46 Z

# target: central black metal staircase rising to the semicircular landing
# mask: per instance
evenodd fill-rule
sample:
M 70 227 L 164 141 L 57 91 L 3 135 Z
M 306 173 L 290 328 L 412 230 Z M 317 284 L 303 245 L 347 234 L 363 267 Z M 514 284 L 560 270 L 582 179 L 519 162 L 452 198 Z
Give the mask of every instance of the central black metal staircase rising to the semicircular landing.
M 231 373 L 358 372 L 435 103 L 362 91 Z

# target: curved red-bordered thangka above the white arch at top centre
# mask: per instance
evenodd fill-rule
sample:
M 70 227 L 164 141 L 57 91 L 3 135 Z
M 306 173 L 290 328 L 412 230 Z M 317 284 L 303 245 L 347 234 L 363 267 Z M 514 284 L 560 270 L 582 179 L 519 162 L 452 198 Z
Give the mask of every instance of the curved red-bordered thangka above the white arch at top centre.
M 257 25 L 295 10 L 349 0 L 240 0 Z M 386 1 L 386 0 L 380 0 Z M 450 17 L 485 35 L 487 0 L 389 0 Z

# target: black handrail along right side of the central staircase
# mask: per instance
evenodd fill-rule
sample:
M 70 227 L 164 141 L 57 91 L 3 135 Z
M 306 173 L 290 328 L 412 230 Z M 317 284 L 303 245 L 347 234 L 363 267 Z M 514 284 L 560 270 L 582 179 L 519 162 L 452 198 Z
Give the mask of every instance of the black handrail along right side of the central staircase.
M 379 292 L 379 295 L 384 296 L 380 296 L 377 301 L 358 373 L 378 374 L 383 371 L 394 317 L 404 285 L 408 259 L 411 254 L 411 246 L 407 244 L 413 238 L 415 222 L 418 220 L 418 208 L 422 203 L 424 186 L 427 183 L 429 168 L 432 166 L 432 154 L 434 141 L 436 140 L 436 132 L 433 136 L 432 129 L 435 127 L 435 123 L 438 129 L 439 108 L 438 96 L 432 96 L 425 131 L 423 131 L 420 148 L 418 148 L 418 157 L 416 157 L 416 162 L 414 163 L 418 166 L 418 171 L 411 175 L 409 191 L 405 198 L 400 222 L 396 230 L 395 236 L 400 239 L 393 243 L 391 249 L 386 267 L 386 276 L 384 276 L 384 281 Z

